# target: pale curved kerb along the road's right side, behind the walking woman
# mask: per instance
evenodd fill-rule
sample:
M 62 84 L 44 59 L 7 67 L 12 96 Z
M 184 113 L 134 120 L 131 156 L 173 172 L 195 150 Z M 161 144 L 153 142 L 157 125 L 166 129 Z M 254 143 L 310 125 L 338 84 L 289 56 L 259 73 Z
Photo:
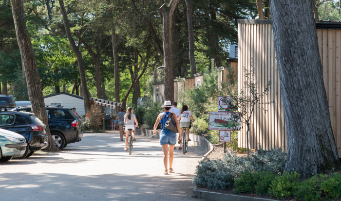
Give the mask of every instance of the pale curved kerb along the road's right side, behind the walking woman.
M 135 128 L 135 134 L 152 137 L 153 130 Z M 179 135 L 177 134 L 177 137 L 178 136 Z M 153 138 L 160 138 L 160 131 L 157 131 L 156 136 L 153 136 Z M 189 143 L 199 146 L 207 151 L 207 153 L 201 158 L 200 161 L 205 160 L 207 156 L 213 151 L 213 145 L 205 137 L 196 134 L 189 134 L 189 138 L 191 139 Z

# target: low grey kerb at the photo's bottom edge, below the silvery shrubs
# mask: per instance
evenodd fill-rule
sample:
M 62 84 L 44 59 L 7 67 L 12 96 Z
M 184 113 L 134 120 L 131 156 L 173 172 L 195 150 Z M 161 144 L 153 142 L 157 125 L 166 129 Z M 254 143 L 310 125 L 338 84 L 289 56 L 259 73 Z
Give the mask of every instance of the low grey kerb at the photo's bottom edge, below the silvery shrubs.
M 201 198 L 208 201 L 278 201 L 265 198 L 252 198 L 247 196 L 197 190 L 197 187 L 194 187 L 193 189 L 193 198 Z

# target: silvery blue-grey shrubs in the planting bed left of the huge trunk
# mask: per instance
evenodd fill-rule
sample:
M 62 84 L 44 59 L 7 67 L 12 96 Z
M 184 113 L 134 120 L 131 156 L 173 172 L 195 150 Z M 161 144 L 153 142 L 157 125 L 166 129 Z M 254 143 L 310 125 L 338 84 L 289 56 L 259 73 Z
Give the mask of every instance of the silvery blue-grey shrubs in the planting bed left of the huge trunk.
M 276 158 L 276 162 L 272 162 L 272 158 Z M 192 179 L 196 186 L 224 189 L 232 187 L 232 184 L 237 178 L 241 177 L 243 172 L 259 173 L 253 183 L 259 186 L 256 192 L 263 193 L 265 186 L 272 180 L 271 175 L 281 174 L 284 171 L 283 164 L 285 163 L 286 155 L 282 149 L 266 151 L 262 156 L 253 154 L 249 160 L 246 157 L 238 157 L 237 154 L 231 152 L 225 154 L 224 160 L 201 161 L 197 166 L 196 176 Z M 249 175 L 248 173 L 245 174 L 246 176 Z M 239 184 L 243 185 L 242 181 Z M 251 183 L 246 185 L 250 186 Z M 244 186 L 243 189 L 249 188 Z

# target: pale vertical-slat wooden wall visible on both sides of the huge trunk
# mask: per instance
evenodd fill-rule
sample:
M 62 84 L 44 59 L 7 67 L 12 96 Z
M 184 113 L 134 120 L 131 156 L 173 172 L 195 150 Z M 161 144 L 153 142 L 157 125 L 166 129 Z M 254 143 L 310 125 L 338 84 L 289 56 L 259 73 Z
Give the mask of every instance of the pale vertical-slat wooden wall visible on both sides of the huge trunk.
M 323 82 L 329 103 L 333 134 L 341 157 L 341 30 L 317 29 L 319 51 L 322 63 Z M 258 92 L 264 90 L 267 81 L 271 89 L 263 101 L 275 101 L 265 106 L 268 112 L 258 107 L 253 111 L 249 133 L 249 147 L 258 150 L 258 143 L 264 149 L 283 147 L 286 150 L 286 130 L 280 80 L 273 44 L 271 24 L 238 24 L 238 90 L 247 90 L 243 83 L 243 67 L 250 68 L 253 60 L 255 81 Z M 246 148 L 246 125 L 239 132 L 238 144 Z

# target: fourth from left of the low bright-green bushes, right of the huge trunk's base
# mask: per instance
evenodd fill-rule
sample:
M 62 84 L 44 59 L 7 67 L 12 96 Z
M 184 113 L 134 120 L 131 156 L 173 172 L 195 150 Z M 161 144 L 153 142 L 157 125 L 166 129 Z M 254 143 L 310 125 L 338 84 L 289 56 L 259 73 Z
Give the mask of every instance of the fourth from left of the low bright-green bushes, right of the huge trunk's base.
M 321 180 L 317 176 L 313 176 L 308 180 L 297 185 L 294 192 L 297 200 L 302 201 L 320 201 L 321 200 Z

